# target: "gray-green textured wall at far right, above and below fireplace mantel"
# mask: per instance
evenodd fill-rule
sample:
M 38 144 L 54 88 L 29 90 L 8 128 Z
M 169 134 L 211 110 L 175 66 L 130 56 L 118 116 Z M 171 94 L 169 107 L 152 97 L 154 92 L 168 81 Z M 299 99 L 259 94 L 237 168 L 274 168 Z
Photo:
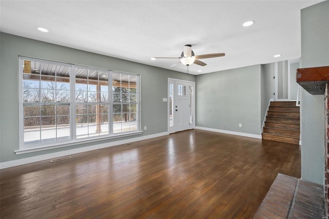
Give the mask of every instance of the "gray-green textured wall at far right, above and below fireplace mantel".
M 329 1 L 301 10 L 301 67 L 329 66 Z M 302 179 L 324 184 L 324 95 L 301 92 Z

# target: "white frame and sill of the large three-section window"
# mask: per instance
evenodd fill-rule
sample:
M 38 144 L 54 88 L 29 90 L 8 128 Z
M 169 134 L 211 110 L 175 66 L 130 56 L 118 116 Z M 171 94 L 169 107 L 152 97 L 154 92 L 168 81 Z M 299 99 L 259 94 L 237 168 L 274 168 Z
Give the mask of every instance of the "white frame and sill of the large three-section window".
M 69 104 L 70 108 L 70 137 L 69 140 L 63 140 L 63 141 L 55 141 L 51 143 L 41 143 L 41 139 L 38 144 L 33 145 L 25 145 L 24 144 L 24 106 L 25 105 L 32 105 L 33 102 L 24 102 L 23 100 L 23 65 L 24 60 L 28 61 L 34 61 L 34 62 L 40 62 L 40 63 L 48 63 L 48 64 L 54 64 L 54 65 L 64 65 L 68 66 L 70 69 L 70 76 L 69 76 L 69 96 L 70 100 L 69 102 L 65 103 L 66 105 Z M 98 135 L 93 137 L 86 137 L 86 138 L 77 138 L 77 122 L 76 122 L 76 69 L 77 68 L 86 68 L 90 70 L 98 70 L 98 71 L 107 71 L 108 72 L 108 134 L 106 135 Z M 41 73 L 40 73 L 41 74 Z M 114 129 L 114 122 L 113 122 L 113 74 L 124 74 L 129 76 L 136 77 L 136 104 L 137 104 L 137 130 L 136 131 L 128 131 L 128 132 L 121 132 L 120 133 L 113 133 Z M 130 77 L 129 77 L 130 78 Z M 41 78 L 40 78 L 41 81 Z M 43 105 L 44 103 L 35 102 L 38 105 Z M 128 102 L 130 104 L 130 102 Z M 135 102 L 134 102 L 135 103 Z M 47 103 L 46 103 L 47 104 Z M 57 105 L 57 102 L 54 102 L 55 105 Z M 61 104 L 61 103 L 59 103 Z M 88 103 L 87 103 L 88 104 Z M 35 105 L 35 104 L 34 104 Z M 123 71 L 117 71 L 117 70 L 111 70 L 111 69 L 104 69 L 104 68 L 97 68 L 97 67 L 90 67 L 90 66 L 84 66 L 84 65 L 76 65 L 76 64 L 70 64 L 70 63 L 64 63 L 64 62 L 57 62 L 57 61 L 49 61 L 44 59 L 36 59 L 36 58 L 30 58 L 30 57 L 23 57 L 19 56 L 19 121 L 20 121 L 20 133 L 19 133 L 19 141 L 20 141 L 20 149 L 14 151 L 16 154 L 21 153 L 29 153 L 29 152 L 35 152 L 35 151 L 41 151 L 41 150 L 48 150 L 53 148 L 61 148 L 61 147 L 68 147 L 71 145 L 76 145 L 77 143 L 88 143 L 88 142 L 96 142 L 101 140 L 107 140 L 107 139 L 114 139 L 114 138 L 120 138 L 124 136 L 130 136 L 130 135 L 137 135 L 141 134 L 141 111 L 140 111 L 140 75 L 134 74 L 131 72 L 123 72 Z M 130 112 L 129 112 L 130 114 Z M 41 118 L 42 115 L 39 115 Z M 55 115 L 57 117 L 57 115 Z M 57 127 L 56 127 L 57 130 Z

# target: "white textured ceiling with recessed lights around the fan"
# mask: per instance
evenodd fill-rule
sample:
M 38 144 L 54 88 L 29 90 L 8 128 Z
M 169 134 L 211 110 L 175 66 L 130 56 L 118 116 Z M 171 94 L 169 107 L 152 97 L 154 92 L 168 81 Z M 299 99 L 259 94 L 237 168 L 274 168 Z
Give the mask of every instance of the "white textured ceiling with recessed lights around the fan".
M 185 44 L 195 55 L 226 53 L 192 64 L 198 75 L 300 57 L 300 9 L 319 2 L 1 0 L 0 31 L 181 72 L 170 67 L 178 60 L 150 58 L 179 57 Z

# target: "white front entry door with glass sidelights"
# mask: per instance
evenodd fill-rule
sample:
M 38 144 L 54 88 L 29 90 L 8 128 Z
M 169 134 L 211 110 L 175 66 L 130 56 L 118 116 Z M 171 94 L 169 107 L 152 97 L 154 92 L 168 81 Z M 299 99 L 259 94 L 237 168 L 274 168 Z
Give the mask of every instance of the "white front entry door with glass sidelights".
M 168 79 L 169 133 L 194 129 L 195 82 Z

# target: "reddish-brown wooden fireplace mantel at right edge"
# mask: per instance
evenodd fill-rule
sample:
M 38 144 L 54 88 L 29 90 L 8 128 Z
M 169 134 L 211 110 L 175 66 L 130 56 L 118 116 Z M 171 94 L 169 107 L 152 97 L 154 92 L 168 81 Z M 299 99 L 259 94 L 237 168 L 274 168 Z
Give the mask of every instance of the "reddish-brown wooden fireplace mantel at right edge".
M 323 95 L 329 82 L 329 66 L 298 68 L 297 83 L 312 95 Z

